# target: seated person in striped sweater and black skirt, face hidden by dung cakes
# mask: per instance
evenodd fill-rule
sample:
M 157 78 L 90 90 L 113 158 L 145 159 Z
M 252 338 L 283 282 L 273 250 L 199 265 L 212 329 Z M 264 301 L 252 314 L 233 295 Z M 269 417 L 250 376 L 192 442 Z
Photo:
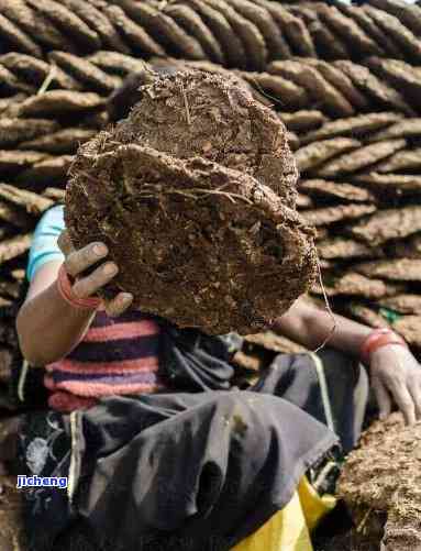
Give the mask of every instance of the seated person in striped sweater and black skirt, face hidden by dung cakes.
M 329 337 L 329 348 L 277 355 L 240 388 L 239 335 L 180 330 L 132 309 L 124 291 L 100 300 L 118 271 L 104 243 L 74 249 L 62 206 L 43 216 L 16 329 L 49 396 L 25 416 L 20 459 L 22 474 L 68 484 L 26 488 L 33 551 L 65 549 L 75 525 L 101 551 L 241 546 L 303 481 L 332 492 L 337 443 L 348 452 L 362 430 L 365 368 L 381 418 L 394 404 L 408 423 L 421 417 L 421 370 L 392 331 L 341 316 L 332 331 L 330 312 L 300 298 L 272 329 L 310 351 Z

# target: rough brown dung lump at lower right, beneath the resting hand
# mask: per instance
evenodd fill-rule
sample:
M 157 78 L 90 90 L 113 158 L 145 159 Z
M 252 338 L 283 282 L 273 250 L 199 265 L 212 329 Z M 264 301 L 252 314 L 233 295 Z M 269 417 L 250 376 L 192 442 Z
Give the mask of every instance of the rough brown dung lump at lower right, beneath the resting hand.
M 405 427 L 400 414 L 375 422 L 348 456 L 340 495 L 367 539 L 386 518 L 385 551 L 421 549 L 421 423 Z

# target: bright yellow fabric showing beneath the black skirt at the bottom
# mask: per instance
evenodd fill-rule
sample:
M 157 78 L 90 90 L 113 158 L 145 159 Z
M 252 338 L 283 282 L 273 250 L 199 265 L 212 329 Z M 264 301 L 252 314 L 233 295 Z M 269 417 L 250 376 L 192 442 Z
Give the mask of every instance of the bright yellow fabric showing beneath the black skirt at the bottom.
M 313 551 L 310 532 L 336 504 L 320 497 L 306 476 L 289 504 L 232 551 Z

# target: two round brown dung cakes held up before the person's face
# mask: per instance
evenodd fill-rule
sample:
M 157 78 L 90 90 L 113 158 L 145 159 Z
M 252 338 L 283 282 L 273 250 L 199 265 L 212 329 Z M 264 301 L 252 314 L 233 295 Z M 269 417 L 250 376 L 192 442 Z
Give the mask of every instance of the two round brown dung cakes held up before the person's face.
M 101 239 L 120 266 L 108 296 L 129 290 L 181 327 L 252 333 L 313 280 L 285 126 L 236 79 L 157 78 L 129 119 L 80 147 L 70 176 L 76 246 Z

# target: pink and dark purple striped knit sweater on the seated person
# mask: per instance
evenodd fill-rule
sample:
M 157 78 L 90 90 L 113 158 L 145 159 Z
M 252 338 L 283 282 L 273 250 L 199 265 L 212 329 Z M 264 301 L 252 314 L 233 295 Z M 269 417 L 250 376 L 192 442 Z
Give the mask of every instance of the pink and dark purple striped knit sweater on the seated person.
M 48 404 L 60 411 L 88 408 L 111 395 L 165 388 L 158 367 L 159 326 L 140 311 L 109 318 L 98 310 L 84 339 L 63 360 L 46 365 Z

